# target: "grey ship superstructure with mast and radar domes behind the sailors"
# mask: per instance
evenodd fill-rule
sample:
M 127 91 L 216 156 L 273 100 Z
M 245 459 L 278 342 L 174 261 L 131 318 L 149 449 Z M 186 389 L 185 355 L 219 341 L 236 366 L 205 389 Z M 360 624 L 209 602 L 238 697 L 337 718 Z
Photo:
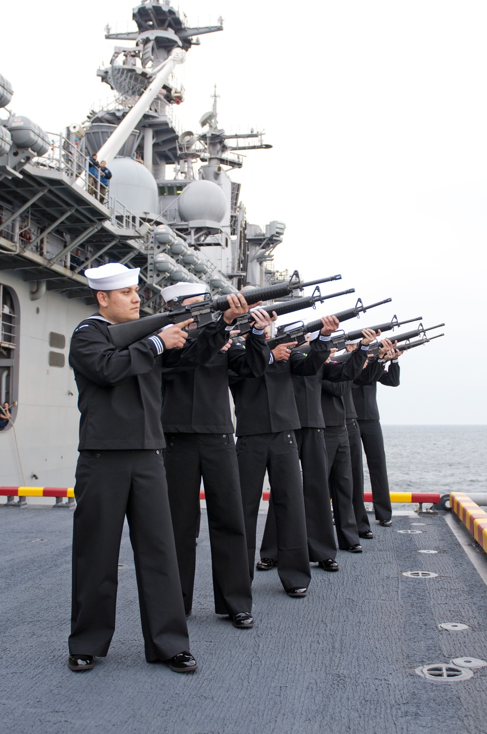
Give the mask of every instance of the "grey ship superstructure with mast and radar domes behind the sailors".
M 0 400 L 13 406 L 0 431 L 4 484 L 73 482 L 78 411 L 67 350 L 93 311 L 85 268 L 139 267 L 142 315 L 161 310 L 166 283 L 199 281 L 214 295 L 279 279 L 272 252 L 285 225 L 249 224 L 229 175 L 243 165 L 239 151 L 271 147 L 263 133 L 226 134 L 216 88 L 197 131 L 173 113 L 184 98 L 175 65 L 221 22 L 191 26 L 157 0 L 134 8 L 133 21 L 133 32 L 106 28 L 124 43 L 98 70 L 111 101 L 62 133 L 14 111 L 0 78 Z M 92 153 L 109 164 L 109 186 L 92 175 Z

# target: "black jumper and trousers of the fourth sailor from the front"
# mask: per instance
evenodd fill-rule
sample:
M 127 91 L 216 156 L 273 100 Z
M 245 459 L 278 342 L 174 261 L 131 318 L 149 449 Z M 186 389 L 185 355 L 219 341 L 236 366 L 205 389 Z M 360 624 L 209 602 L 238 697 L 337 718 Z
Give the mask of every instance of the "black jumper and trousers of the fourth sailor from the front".
M 310 346 L 299 349 L 307 354 Z M 308 553 L 311 562 L 334 559 L 337 545 L 334 538 L 332 507 L 328 485 L 328 457 L 325 446 L 325 421 L 321 410 L 321 382 L 323 377 L 338 382 L 353 380 L 367 359 L 367 352 L 356 350 L 350 360 L 323 365 L 318 374 L 311 377 L 293 375 L 293 389 L 301 428 L 296 430 L 296 443 L 303 474 L 304 508 Z M 351 385 L 351 382 L 347 382 Z M 272 495 L 266 520 L 260 557 L 275 559 L 277 556 L 276 520 Z

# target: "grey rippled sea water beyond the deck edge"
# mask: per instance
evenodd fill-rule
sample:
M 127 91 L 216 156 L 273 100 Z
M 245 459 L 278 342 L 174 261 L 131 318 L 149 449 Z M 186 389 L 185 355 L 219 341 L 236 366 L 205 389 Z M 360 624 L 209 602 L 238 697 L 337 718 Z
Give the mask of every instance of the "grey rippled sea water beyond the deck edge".
M 487 492 L 487 426 L 382 426 L 391 492 Z M 365 491 L 370 492 L 364 455 Z

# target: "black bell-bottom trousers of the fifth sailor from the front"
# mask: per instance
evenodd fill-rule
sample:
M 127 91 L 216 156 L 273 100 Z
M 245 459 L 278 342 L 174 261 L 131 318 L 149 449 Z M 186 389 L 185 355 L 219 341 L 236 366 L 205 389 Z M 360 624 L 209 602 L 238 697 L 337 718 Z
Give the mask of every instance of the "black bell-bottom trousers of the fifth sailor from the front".
M 325 445 L 338 548 L 349 548 L 357 545 L 360 539 L 354 513 L 354 483 L 346 427 L 327 426 Z

